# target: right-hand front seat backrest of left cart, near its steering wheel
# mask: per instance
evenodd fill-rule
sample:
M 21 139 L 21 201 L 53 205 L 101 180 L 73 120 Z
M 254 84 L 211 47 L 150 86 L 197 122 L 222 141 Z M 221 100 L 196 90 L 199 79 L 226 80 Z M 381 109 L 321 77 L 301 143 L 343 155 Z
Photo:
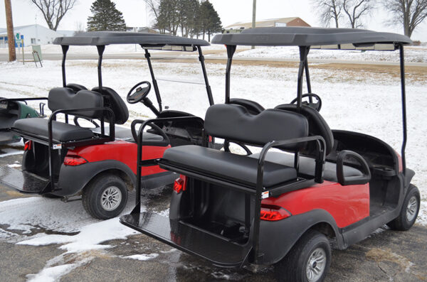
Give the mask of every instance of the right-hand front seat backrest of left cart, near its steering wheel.
M 100 87 L 94 87 L 92 91 L 100 92 Z M 105 86 L 102 86 L 102 95 L 104 96 L 104 107 L 109 107 L 114 112 L 115 124 L 125 124 L 129 119 L 129 111 L 120 95 Z

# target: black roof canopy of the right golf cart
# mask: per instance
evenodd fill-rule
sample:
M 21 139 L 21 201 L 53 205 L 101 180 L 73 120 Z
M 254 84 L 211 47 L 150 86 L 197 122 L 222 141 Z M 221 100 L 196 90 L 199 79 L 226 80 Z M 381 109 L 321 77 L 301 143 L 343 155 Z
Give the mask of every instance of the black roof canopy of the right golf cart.
M 272 27 L 248 28 L 241 33 L 218 34 L 211 42 L 225 45 L 263 46 L 337 45 L 336 48 L 340 48 L 338 45 L 342 44 L 352 44 L 354 47 L 367 47 L 375 44 L 408 45 L 412 43 L 412 40 L 397 33 L 354 28 Z

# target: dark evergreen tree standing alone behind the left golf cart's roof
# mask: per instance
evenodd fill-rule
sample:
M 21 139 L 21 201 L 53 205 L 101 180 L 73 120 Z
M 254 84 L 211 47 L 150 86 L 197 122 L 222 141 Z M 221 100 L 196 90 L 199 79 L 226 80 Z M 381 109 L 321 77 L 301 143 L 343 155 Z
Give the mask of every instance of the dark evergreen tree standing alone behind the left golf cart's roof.
M 126 31 L 122 12 L 111 0 L 96 0 L 90 11 L 93 16 L 88 17 L 88 31 Z

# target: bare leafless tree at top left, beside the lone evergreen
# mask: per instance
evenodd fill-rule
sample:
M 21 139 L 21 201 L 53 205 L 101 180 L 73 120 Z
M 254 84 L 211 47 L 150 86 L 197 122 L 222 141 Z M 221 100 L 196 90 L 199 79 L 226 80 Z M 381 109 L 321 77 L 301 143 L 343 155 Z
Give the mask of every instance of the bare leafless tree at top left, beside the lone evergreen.
M 56 31 L 65 13 L 73 9 L 77 0 L 31 0 L 43 13 L 46 23 L 51 30 Z

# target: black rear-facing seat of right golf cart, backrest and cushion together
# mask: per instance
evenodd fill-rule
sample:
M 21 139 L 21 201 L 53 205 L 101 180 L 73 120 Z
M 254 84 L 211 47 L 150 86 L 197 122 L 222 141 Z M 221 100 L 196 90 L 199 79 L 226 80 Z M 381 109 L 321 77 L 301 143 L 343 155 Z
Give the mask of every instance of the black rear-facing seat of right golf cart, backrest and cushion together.
M 210 136 L 263 146 L 273 140 L 288 140 L 306 137 L 308 123 L 301 114 L 277 109 L 266 109 L 253 115 L 237 104 L 216 104 L 209 107 L 205 117 L 205 131 Z M 285 150 L 297 151 L 304 143 L 281 146 Z M 221 180 L 256 186 L 258 159 L 218 151 L 201 146 L 177 146 L 167 149 L 160 161 L 166 166 L 186 168 Z M 173 170 L 173 168 L 172 168 Z M 297 180 L 292 166 L 266 161 L 264 164 L 263 187 Z

